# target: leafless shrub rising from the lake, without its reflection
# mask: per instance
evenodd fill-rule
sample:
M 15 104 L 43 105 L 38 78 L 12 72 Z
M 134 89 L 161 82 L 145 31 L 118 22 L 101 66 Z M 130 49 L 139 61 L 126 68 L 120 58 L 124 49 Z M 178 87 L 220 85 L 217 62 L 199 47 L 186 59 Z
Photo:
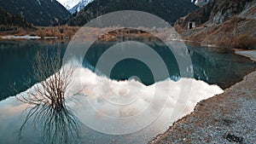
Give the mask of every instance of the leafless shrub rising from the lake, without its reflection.
M 72 84 L 72 66 L 61 67 L 61 51 L 56 55 L 48 55 L 38 51 L 33 65 L 34 78 L 40 82 L 18 100 L 30 105 L 49 105 L 56 111 L 65 107 L 65 94 Z

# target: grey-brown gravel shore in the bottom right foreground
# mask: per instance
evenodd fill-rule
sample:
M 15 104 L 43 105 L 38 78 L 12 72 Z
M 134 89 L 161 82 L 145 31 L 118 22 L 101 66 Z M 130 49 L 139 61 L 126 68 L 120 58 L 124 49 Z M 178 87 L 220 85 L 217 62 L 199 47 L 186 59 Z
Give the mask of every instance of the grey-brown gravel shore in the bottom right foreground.
M 256 71 L 225 89 L 224 94 L 201 101 L 153 143 L 255 143 Z

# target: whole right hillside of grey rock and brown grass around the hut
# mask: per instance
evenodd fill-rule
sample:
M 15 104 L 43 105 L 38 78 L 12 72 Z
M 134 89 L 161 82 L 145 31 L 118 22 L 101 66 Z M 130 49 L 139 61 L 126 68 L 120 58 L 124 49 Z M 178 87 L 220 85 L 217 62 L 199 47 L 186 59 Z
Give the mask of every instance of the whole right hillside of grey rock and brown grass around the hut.
M 256 48 L 256 1 L 214 0 L 177 20 L 175 28 L 185 39 L 224 48 Z M 187 30 L 188 22 L 197 28 Z

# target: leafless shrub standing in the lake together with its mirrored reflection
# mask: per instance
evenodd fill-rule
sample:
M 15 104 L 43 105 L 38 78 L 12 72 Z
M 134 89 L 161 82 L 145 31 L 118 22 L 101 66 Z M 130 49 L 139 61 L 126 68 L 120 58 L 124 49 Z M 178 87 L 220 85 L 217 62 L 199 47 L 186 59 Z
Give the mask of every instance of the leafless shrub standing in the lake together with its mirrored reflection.
M 18 101 L 28 104 L 25 122 L 32 119 L 34 127 L 43 132 L 46 143 L 72 143 L 79 136 L 79 119 L 67 107 L 67 90 L 73 83 L 73 67 L 61 66 L 61 51 L 49 55 L 39 51 L 33 65 L 33 77 L 39 82 L 26 94 L 17 95 Z M 40 124 L 40 125 L 39 125 Z

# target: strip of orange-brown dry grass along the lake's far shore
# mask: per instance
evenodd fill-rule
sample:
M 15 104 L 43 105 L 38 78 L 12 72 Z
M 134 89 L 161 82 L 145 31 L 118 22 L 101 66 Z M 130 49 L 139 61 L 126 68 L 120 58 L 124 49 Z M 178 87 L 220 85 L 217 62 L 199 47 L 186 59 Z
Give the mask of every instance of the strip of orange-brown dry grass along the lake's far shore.
M 235 53 L 236 55 L 241 55 L 239 52 L 234 51 L 232 47 L 226 48 L 224 44 L 223 47 L 217 46 L 217 45 L 202 45 L 200 41 L 196 41 L 193 39 L 187 39 L 184 37 L 184 33 L 180 32 L 177 34 L 174 29 L 148 29 L 139 27 L 138 29 L 133 28 L 121 28 L 121 27 L 106 27 L 103 29 L 95 28 L 95 27 L 83 27 L 84 33 L 86 34 L 84 36 L 84 33 L 81 36 L 77 36 L 76 33 L 79 33 L 79 30 L 81 29 L 81 26 L 34 26 L 32 28 L 22 28 L 22 27 L 15 27 L 13 31 L 5 31 L 0 32 L 0 41 L 6 41 L 6 40 L 15 40 L 15 41 L 22 41 L 22 40 L 54 40 L 54 41 L 67 41 L 71 40 L 73 36 L 76 37 L 84 37 L 84 40 L 88 41 L 95 41 L 97 38 L 98 42 L 116 42 L 116 41 L 122 41 L 124 39 L 133 38 L 133 40 L 143 40 L 145 43 L 154 42 L 157 39 L 154 36 L 157 36 L 160 39 L 167 39 L 170 41 L 183 41 L 183 43 L 186 43 L 190 46 L 196 46 L 196 47 L 214 47 L 215 51 L 219 53 Z M 110 31 L 113 30 L 114 31 Z M 141 31 L 139 29 L 143 29 L 144 31 Z M 189 31 L 189 30 L 187 30 Z M 98 32 L 102 32 L 103 35 L 100 37 L 96 37 L 98 35 Z M 170 37 L 170 33 L 172 37 Z M 81 34 L 81 32 L 80 32 Z M 181 37 L 179 36 L 181 35 Z M 183 38 L 182 38 L 183 37 Z M 241 49 L 245 50 L 245 49 Z M 248 51 L 247 53 L 250 53 Z M 242 55 L 247 56 L 247 55 Z M 252 56 L 251 56 L 252 57 Z M 250 58 L 251 58 L 250 57 Z M 256 59 L 253 57 L 253 60 Z

